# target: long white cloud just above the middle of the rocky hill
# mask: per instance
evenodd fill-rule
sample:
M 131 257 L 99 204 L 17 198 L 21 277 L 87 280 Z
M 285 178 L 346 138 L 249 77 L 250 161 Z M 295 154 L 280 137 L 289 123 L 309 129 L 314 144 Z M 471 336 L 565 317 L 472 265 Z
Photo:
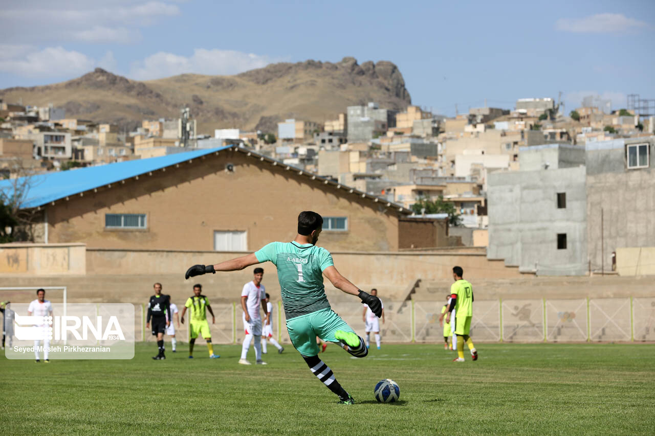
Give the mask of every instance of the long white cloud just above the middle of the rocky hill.
M 189 57 L 166 52 L 155 53 L 143 61 L 134 62 L 129 76 L 132 79 L 149 80 L 183 73 L 232 75 L 277 61 L 268 56 L 235 50 L 196 48 Z

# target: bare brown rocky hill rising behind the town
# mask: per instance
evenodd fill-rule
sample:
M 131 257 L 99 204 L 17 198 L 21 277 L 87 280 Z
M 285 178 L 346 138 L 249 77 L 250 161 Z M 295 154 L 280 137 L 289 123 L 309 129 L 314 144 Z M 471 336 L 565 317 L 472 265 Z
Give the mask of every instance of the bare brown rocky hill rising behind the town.
M 398 67 L 391 62 L 308 60 L 271 64 L 233 76 L 183 74 L 154 81 L 132 81 L 96 68 L 71 81 L 0 90 L 7 102 L 66 109 L 66 117 L 115 122 L 134 128 L 142 119 L 177 118 L 184 105 L 198 120 L 198 132 L 241 128 L 274 132 L 285 118 L 324 122 L 346 106 L 376 101 L 405 109 L 411 103 Z

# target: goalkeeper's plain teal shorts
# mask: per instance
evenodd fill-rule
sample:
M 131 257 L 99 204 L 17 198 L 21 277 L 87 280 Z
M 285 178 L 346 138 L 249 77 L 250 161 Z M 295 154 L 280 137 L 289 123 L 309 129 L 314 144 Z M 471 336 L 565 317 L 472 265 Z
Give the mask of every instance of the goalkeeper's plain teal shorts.
M 339 342 L 335 332 L 342 330 L 355 333 L 350 325 L 331 309 L 322 309 L 287 320 L 291 344 L 305 357 L 318 354 L 316 336 L 327 342 Z

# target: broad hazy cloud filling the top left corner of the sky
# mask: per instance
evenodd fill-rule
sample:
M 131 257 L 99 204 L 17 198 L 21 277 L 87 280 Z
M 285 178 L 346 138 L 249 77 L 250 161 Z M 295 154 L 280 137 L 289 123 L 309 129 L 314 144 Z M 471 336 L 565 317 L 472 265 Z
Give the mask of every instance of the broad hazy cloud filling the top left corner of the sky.
M 141 39 L 140 28 L 181 14 L 170 1 L 69 0 L 58 7 L 45 0 L 16 2 L 3 5 L 0 28 L 6 41 L 134 43 Z M 25 32 L 28 26 L 38 30 Z

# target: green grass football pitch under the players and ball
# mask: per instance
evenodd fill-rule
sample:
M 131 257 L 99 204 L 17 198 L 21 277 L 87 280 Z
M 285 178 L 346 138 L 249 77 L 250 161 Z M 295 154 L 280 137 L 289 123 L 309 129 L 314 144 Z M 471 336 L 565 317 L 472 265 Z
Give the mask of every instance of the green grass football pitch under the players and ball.
M 170 350 L 170 344 L 166 344 Z M 238 365 L 240 346 L 197 346 L 153 361 L 0 361 L 3 434 L 37 433 L 603 433 L 655 431 L 655 346 L 478 344 L 453 363 L 439 345 L 384 345 L 365 359 L 336 346 L 320 355 L 356 400 L 337 397 L 293 347 L 269 365 Z M 253 360 L 254 350 L 249 358 Z M 379 404 L 392 378 L 400 402 Z

